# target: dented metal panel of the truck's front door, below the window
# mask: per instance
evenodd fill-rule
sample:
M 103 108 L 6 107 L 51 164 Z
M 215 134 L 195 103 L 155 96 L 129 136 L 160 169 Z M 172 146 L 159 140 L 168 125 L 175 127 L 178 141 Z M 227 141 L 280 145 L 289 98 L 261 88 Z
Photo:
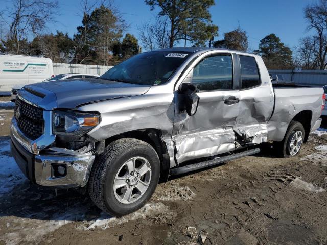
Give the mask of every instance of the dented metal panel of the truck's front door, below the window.
M 179 110 L 178 95 L 175 96 L 172 138 L 176 146 L 177 163 L 235 149 L 233 126 L 239 114 L 239 103 L 228 105 L 225 100 L 230 96 L 239 97 L 239 91 L 210 91 L 197 95 L 200 101 L 193 116 Z

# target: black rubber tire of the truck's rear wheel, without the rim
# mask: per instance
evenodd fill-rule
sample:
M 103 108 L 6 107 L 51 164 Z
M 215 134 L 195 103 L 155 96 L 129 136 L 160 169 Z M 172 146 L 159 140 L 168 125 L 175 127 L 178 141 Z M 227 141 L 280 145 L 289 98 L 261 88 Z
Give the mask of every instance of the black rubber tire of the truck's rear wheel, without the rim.
M 290 153 L 291 140 L 292 140 L 295 132 L 297 132 L 297 131 L 301 131 L 302 138 L 304 139 L 305 128 L 303 127 L 303 125 L 298 121 L 291 121 L 289 126 L 288 126 L 288 129 L 286 131 L 286 134 L 285 134 L 285 137 L 284 137 L 283 141 L 281 141 L 281 142 L 274 141 L 273 142 L 274 150 L 275 150 L 275 152 L 277 153 L 278 156 L 281 156 L 281 157 L 294 157 L 299 153 L 299 151 L 297 151 L 296 154 L 294 154 L 294 155 L 291 155 L 291 153 Z M 303 139 L 302 139 L 301 146 L 303 145 Z

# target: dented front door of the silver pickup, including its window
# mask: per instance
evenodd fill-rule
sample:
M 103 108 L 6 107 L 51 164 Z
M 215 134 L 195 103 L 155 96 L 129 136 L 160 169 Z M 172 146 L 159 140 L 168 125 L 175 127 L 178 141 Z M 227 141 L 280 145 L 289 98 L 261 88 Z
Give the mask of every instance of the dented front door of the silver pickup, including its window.
M 178 95 L 173 128 L 178 163 L 215 156 L 235 149 L 233 127 L 239 114 L 238 78 L 233 76 L 236 56 L 204 57 L 191 70 L 188 82 L 200 98 L 195 115 L 180 111 Z M 192 72 L 193 71 L 193 72 Z

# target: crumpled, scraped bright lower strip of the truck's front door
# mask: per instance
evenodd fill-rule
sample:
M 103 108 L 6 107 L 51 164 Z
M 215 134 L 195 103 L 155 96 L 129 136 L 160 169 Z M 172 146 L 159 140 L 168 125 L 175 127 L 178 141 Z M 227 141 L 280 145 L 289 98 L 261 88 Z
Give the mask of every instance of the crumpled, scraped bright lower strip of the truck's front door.
M 178 163 L 195 158 L 215 156 L 235 150 L 232 128 L 200 131 L 174 137 Z

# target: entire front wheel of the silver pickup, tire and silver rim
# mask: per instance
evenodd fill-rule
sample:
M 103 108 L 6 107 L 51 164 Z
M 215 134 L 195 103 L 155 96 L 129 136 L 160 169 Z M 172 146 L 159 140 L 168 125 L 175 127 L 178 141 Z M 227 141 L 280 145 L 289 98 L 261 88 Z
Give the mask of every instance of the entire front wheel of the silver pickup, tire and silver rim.
M 159 157 L 151 145 L 134 138 L 118 139 L 96 159 L 89 194 L 106 213 L 123 216 L 147 203 L 159 175 Z

